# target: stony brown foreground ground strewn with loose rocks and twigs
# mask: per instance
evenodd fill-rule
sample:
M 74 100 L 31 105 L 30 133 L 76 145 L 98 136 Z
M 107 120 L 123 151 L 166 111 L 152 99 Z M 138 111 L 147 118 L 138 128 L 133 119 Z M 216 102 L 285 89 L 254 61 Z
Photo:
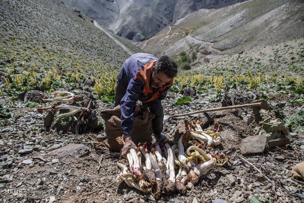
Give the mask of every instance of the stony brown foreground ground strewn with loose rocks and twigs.
M 207 95 L 195 95 L 191 91 L 183 94 L 190 94 L 193 100 L 175 106 L 172 101 L 181 95 L 170 92 L 163 101 L 165 115 L 221 106 L 220 101 L 209 102 Z M 233 95 L 237 105 L 253 102 L 258 92 L 237 88 L 227 94 Z M 0 129 L 1 202 L 155 202 L 150 193 L 144 194 L 124 182 L 114 182 L 120 172 L 116 162 L 125 160 L 104 143 L 97 143 L 98 131 L 83 134 L 58 128 L 47 131 L 44 117 L 48 111 L 38 113 L 36 109 L 38 105 L 48 104 L 39 103 L 39 94 L 33 95 L 35 97 L 27 93 L 27 103 L 18 101 L 9 108 L 11 118 L 5 120 L 10 125 Z M 45 96 L 42 92 L 41 95 Z M 286 116 L 303 108 L 302 104 L 291 101 L 292 94 L 269 93 L 268 97 L 268 104 L 279 106 L 277 113 Z M 7 99 L 2 97 L 1 103 Z M 33 100 L 36 105 L 28 105 L 33 104 Z M 101 110 L 109 108 L 109 104 L 95 100 L 94 96 L 93 101 L 96 115 L 101 119 Z M 222 152 L 229 156 L 228 163 L 202 176 L 185 195 L 162 195 L 157 202 L 242 203 L 255 200 L 255 196 L 265 202 L 272 202 L 272 198 L 280 203 L 303 202 L 304 181 L 291 178 L 291 170 L 304 160 L 304 133 L 291 133 L 290 144 L 272 148 L 266 145 L 262 153 L 243 155 L 240 150 L 242 140 L 253 136 L 254 127 L 258 126 L 248 121 L 251 114 L 252 108 L 209 113 L 213 120 L 208 120 L 204 129 L 213 129 L 214 123 L 221 122 L 223 143 L 206 152 Z M 198 116 L 165 122 L 164 134 L 173 140 L 174 134 L 185 130 L 184 119 L 192 120 Z M 254 145 L 259 145 L 258 142 L 253 148 L 260 147 Z

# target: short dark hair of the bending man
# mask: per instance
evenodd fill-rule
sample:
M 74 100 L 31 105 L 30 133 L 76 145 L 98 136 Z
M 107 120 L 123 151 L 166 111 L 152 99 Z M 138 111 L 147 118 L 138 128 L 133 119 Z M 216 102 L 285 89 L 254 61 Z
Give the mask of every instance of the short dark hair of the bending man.
M 164 72 L 168 77 L 177 76 L 177 63 L 167 55 L 161 56 L 155 63 L 155 73 Z

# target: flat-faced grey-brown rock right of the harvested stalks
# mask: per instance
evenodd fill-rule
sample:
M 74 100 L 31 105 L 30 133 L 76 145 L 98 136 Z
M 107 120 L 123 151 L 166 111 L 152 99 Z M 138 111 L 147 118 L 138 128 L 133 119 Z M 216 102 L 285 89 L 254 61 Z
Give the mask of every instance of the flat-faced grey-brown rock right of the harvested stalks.
M 242 154 L 263 153 L 266 146 L 266 135 L 255 135 L 243 139 L 240 149 Z

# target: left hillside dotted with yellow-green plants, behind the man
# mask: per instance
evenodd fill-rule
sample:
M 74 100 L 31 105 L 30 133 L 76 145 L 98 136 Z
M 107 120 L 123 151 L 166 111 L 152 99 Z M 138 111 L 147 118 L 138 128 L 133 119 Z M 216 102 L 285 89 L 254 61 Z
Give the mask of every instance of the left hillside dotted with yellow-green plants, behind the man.
M 111 82 L 113 92 L 116 72 L 131 54 L 126 50 L 140 51 L 57 0 L 2 0 L 0 10 L 0 93 L 16 98 L 37 88 L 67 90 L 85 79 L 99 84 L 99 94 Z

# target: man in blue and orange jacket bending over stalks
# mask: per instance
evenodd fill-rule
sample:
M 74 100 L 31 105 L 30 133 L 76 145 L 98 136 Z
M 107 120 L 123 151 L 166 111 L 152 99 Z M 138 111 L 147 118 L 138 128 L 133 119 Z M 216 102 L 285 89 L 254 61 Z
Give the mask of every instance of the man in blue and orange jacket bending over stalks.
M 152 119 L 152 132 L 158 142 L 165 143 L 168 138 L 161 132 L 163 130 L 163 108 L 161 100 L 167 96 L 177 76 L 177 64 L 168 56 L 155 56 L 147 53 L 135 53 L 128 58 L 118 75 L 114 106 L 121 105 L 121 126 L 124 133 L 125 145 L 122 155 L 130 148 L 137 148 L 131 140 L 134 128 L 134 112 L 149 108 L 154 113 Z M 136 102 L 142 105 L 136 107 Z

